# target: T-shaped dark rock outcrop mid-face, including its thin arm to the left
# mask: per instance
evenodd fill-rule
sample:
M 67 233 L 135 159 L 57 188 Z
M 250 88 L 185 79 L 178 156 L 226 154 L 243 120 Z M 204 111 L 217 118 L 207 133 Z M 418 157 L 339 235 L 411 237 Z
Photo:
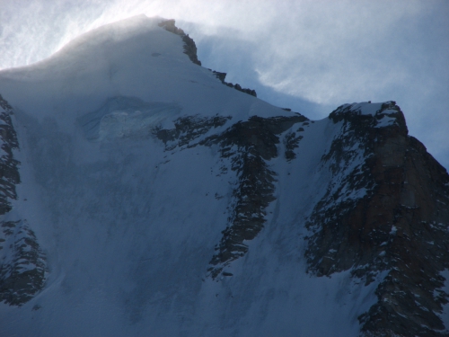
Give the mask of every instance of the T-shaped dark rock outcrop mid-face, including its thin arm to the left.
M 291 129 L 296 123 L 308 120 L 302 115 L 293 117 L 261 118 L 251 117 L 239 121 L 224 132 L 198 139 L 214 128 L 224 126 L 230 117 L 216 116 L 200 118 L 182 117 L 174 121 L 175 129 L 155 129 L 154 135 L 163 141 L 166 151 L 193 146 L 220 146 L 222 160 L 229 161 L 238 182 L 233 188 L 233 202 L 228 226 L 222 232 L 223 237 L 216 245 L 217 253 L 212 257 L 208 269 L 209 275 L 216 279 L 225 266 L 248 252 L 244 241 L 254 239 L 266 222 L 265 209 L 275 200 L 274 182 L 276 175 L 269 168 L 269 160 L 277 157 L 279 136 Z M 287 142 L 295 144 L 301 136 L 293 137 L 288 133 Z M 197 141 L 195 141 L 198 139 Z M 294 139 L 294 140 L 292 140 Z M 288 148 L 294 148 L 290 146 Z M 290 150 L 289 150 L 290 151 Z M 293 158 L 290 153 L 286 157 Z M 223 272 L 225 276 L 231 276 Z

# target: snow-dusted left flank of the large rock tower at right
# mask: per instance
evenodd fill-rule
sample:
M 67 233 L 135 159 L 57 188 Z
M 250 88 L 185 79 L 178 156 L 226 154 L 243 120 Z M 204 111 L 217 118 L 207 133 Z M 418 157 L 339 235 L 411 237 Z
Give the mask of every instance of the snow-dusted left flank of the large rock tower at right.
M 361 115 L 358 111 L 350 110 L 350 106 L 340 107 L 330 113 L 330 119 L 334 123 L 342 123 L 339 135 L 332 141 L 330 151 L 321 159 L 322 165 L 329 167 L 330 185 L 307 224 L 315 234 L 310 238 L 310 248 L 306 256 L 310 270 L 317 275 L 330 275 L 335 271 L 348 270 L 352 267 L 356 256 L 360 258 L 360 261 L 357 261 L 360 265 L 365 265 L 373 258 L 365 255 L 364 245 L 350 244 L 354 239 L 348 236 L 351 234 L 343 232 L 347 229 L 340 223 L 342 215 L 356 208 L 357 202 L 369 200 L 374 194 L 376 183 L 371 167 L 374 161 L 374 147 L 380 140 L 379 136 L 385 129 L 390 128 L 393 135 L 401 133 L 402 137 L 407 136 L 407 127 L 399 107 L 394 110 L 395 124 L 392 127 L 376 128 L 377 118 L 385 117 L 383 114 L 385 110 L 393 111 L 391 106 L 384 104 L 376 116 Z M 363 209 L 361 211 L 364 212 Z M 390 232 L 391 226 L 387 229 Z M 367 235 L 363 242 L 365 239 L 384 239 L 374 238 L 372 235 L 374 234 Z M 377 230 L 375 235 L 379 235 Z M 348 241 L 349 239 L 352 241 Z M 358 244 L 357 240 L 355 242 Z M 336 256 L 339 256 L 339 259 L 336 259 Z M 378 270 L 377 266 L 374 270 Z M 369 280 L 371 281 L 371 278 Z

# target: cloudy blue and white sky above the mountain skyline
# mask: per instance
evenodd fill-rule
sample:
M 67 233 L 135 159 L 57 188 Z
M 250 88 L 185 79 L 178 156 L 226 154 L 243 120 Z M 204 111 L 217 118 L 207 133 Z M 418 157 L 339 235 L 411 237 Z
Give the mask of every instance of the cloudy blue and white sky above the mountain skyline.
M 0 69 L 140 13 L 175 19 L 204 67 L 310 119 L 396 101 L 409 134 L 449 168 L 447 0 L 0 0 Z

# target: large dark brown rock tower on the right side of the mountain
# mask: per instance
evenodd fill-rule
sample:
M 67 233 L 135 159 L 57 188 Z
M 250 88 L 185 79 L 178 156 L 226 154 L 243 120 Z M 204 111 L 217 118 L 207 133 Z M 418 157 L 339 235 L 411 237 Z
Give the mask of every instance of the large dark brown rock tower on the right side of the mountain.
M 440 274 L 449 268 L 449 175 L 408 136 L 394 102 L 374 116 L 342 106 L 330 119 L 342 122 L 342 132 L 323 162 L 342 179 L 309 219 L 309 270 L 352 269 L 366 283 L 387 272 L 377 303 L 359 317 L 366 336 L 445 335 L 436 314 L 449 297 Z M 377 128 L 383 119 L 390 125 Z M 348 198 L 347 191 L 360 193 Z

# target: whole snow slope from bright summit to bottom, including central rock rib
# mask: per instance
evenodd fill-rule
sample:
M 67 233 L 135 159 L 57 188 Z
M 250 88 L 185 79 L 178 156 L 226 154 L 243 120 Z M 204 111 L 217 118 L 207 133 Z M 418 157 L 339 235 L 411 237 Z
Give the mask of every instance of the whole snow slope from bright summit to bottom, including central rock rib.
M 357 336 L 389 270 L 368 282 L 323 263 L 335 247 L 313 219 L 374 186 L 356 183 L 371 153 L 345 119 L 388 129 L 397 107 L 283 111 L 190 62 L 161 20 L 104 26 L 0 72 L 21 163 L 1 220 L 17 225 L 8 243 L 31 247 L 1 252 L 2 270 L 20 252 L 13 267 L 40 276 L 20 306 L 0 304 L 0 334 Z

